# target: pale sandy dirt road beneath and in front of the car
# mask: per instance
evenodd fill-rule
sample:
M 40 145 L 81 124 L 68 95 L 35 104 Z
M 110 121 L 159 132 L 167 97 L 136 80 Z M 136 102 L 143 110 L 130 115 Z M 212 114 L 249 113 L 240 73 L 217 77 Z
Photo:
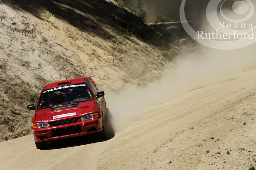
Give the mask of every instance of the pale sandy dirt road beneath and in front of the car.
M 70 139 L 43 151 L 31 135 L 2 142 L 0 169 L 246 169 L 256 164 L 255 89 L 250 70 L 188 91 L 108 141 Z

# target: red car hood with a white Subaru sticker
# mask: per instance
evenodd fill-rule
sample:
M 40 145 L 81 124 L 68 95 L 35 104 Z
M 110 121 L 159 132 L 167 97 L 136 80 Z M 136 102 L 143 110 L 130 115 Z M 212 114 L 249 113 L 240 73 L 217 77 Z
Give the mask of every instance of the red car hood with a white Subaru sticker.
M 72 117 L 81 117 L 83 115 L 92 113 L 94 102 L 94 100 L 81 102 L 76 107 L 54 111 L 51 108 L 37 110 L 35 119 L 36 122 L 51 122 Z

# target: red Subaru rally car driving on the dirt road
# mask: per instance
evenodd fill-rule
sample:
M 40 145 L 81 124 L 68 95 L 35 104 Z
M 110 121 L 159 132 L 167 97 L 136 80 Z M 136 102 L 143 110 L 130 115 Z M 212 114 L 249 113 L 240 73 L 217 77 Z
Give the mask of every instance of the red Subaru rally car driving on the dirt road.
M 42 90 L 35 110 L 31 130 L 38 149 L 46 141 L 98 133 L 110 135 L 108 110 L 104 91 L 98 91 L 91 77 L 47 84 Z

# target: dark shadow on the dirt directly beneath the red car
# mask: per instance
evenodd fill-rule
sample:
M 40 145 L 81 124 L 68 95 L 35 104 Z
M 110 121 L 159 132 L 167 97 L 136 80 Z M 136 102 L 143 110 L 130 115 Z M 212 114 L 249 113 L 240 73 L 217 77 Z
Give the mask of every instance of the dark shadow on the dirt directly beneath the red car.
M 106 139 L 98 139 L 97 134 L 88 134 L 85 136 L 64 138 L 56 141 L 47 142 L 46 147 L 41 150 L 54 150 L 54 149 L 61 149 L 61 148 L 67 148 L 67 147 L 77 147 L 77 146 L 88 145 L 88 144 L 97 143 L 97 142 L 104 142 L 114 137 L 115 135 Z

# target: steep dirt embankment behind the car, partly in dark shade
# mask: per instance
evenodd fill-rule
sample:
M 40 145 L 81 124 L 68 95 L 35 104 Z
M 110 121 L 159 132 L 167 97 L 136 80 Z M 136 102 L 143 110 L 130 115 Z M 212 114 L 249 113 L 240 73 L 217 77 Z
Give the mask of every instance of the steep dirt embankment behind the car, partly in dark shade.
M 92 76 L 105 91 L 161 75 L 158 34 L 111 1 L 1 1 L 0 141 L 29 134 L 28 95 Z

